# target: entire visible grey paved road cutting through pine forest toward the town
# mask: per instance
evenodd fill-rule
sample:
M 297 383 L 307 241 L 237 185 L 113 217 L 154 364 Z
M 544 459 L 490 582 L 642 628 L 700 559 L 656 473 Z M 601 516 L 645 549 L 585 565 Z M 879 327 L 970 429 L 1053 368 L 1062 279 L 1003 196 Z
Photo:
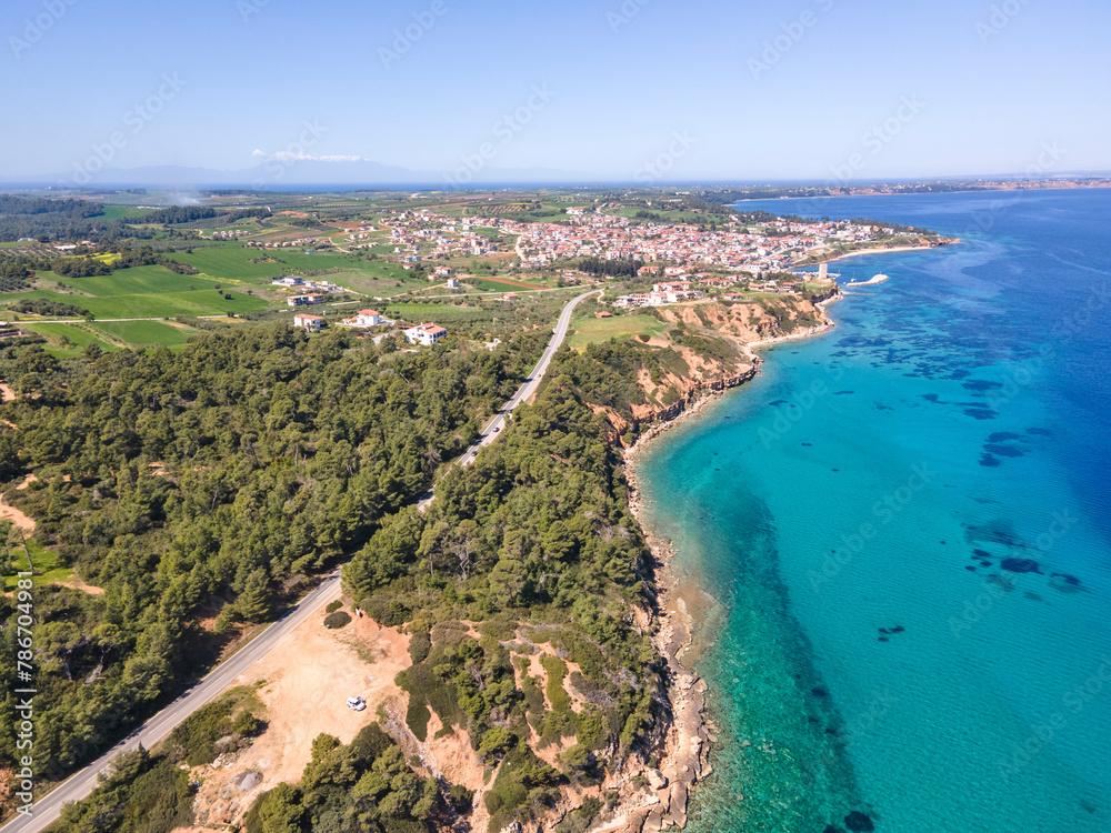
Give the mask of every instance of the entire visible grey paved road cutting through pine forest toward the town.
M 512 413 L 521 402 L 524 402 L 537 392 L 537 389 L 540 388 L 540 383 L 543 381 L 544 373 L 548 372 L 548 365 L 551 364 L 552 357 L 556 355 L 556 351 L 559 350 L 563 343 L 563 339 L 567 338 L 567 331 L 571 327 L 571 315 L 574 313 L 574 308 L 600 291 L 592 290 L 585 292 L 570 301 L 563 308 L 563 312 L 559 317 L 559 322 L 556 324 L 556 330 L 552 333 L 551 341 L 548 342 L 548 349 L 544 350 L 544 354 L 540 357 L 540 361 L 533 368 L 529 378 L 524 380 L 524 384 L 521 385 L 517 393 L 513 394 L 513 398 L 482 429 L 478 441 L 467 450 L 467 453 L 462 456 L 463 465 L 470 465 L 474 462 L 479 449 L 483 445 L 489 445 L 498 439 L 499 433 L 506 425 L 507 415 Z M 427 510 L 434 498 L 434 492 L 424 494 L 418 503 L 419 509 L 422 512 Z M 227 689 L 236 678 L 261 660 L 294 629 L 304 623 L 310 616 L 328 604 L 328 602 L 339 596 L 339 594 L 340 571 L 337 570 L 324 579 L 319 588 L 291 608 L 286 615 L 262 631 L 229 659 L 217 665 L 208 676 L 147 721 L 141 729 L 129 735 L 126 741 L 113 746 L 111 751 L 98 757 L 80 772 L 70 775 L 69 779 L 37 801 L 32 807 L 31 816 L 17 815 L 12 821 L 0 827 L 0 833 L 41 833 L 44 831 L 58 821 L 58 816 L 61 814 L 64 804 L 88 797 L 89 793 L 97 786 L 97 776 L 108 769 L 117 755 L 121 752 L 130 752 L 137 749 L 140 743 L 150 749 L 163 740 L 173 731 L 174 726 L 184 721 L 198 709 L 216 700 L 220 692 Z

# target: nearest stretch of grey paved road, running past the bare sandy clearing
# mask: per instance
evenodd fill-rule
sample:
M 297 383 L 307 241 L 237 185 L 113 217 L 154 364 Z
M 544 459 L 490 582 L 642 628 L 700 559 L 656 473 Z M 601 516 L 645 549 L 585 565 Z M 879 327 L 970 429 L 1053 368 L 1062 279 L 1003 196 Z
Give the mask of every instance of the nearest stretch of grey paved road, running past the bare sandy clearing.
M 218 665 L 208 676 L 187 691 L 166 709 L 160 711 L 126 741 L 101 755 L 80 772 L 71 775 L 54 790 L 47 793 L 33 805 L 33 815 L 22 815 L 0 827 L 0 833 L 40 833 L 56 821 L 62 804 L 84 799 L 97 786 L 97 775 L 106 770 L 118 754 L 130 752 L 141 743 L 150 749 L 161 741 L 173 727 L 203 705 L 212 702 L 231 682 L 262 659 L 298 625 L 316 614 L 328 602 L 340 594 L 340 571 L 324 579 L 323 583 L 309 593 L 294 608 L 267 628 L 246 646 Z

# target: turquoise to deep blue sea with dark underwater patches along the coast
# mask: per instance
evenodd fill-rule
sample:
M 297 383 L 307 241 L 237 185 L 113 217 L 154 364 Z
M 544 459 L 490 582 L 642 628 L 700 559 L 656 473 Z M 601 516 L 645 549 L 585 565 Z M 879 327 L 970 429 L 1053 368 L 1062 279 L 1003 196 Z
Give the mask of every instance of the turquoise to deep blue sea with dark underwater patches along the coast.
M 963 242 L 837 263 L 891 280 L 637 464 L 719 605 L 689 830 L 1108 833 L 1111 191 L 740 208 Z

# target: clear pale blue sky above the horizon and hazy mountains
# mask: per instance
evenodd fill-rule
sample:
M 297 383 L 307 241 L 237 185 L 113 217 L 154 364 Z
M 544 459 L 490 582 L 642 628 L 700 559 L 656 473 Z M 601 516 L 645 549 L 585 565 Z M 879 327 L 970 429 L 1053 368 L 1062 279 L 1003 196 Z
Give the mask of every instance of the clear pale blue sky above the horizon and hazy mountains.
M 1109 32 L 1105 0 L 6 0 L 0 174 L 113 136 L 123 168 L 1111 170 Z

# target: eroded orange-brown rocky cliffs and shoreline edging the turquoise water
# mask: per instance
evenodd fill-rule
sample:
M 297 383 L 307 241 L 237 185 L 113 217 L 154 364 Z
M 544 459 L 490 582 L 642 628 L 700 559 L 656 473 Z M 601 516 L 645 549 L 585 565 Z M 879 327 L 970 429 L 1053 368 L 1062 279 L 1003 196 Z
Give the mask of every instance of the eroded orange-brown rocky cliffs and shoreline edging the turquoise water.
M 697 646 L 688 600 L 702 593 L 698 588 L 684 585 L 671 571 L 674 550 L 670 541 L 653 534 L 645 524 L 639 484 L 629 463 L 681 419 L 699 413 L 724 392 L 755 378 L 763 361 L 755 348 L 831 329 L 833 321 L 822 304 L 839 297 L 834 285 L 817 298 L 788 295 L 732 304 L 711 301 L 658 310 L 659 318 L 674 328 L 667 338 L 645 342 L 647 347 L 675 352 L 685 363 L 685 372 L 641 368 L 637 379 L 645 401 L 630 405 L 631 419 L 613 407 L 592 405 L 595 413 L 609 420 L 613 433 L 625 446 L 628 503 L 655 568 L 649 594 L 652 604 L 638 611 L 637 618 L 649 618 L 653 644 L 667 663 L 665 697 L 671 715 L 670 722 L 653 733 L 648 762 L 639 771 L 635 765 L 627 767 L 607 785 L 619 792 L 621 802 L 603 817 L 598 831 L 642 833 L 685 826 L 691 791 L 713 771 L 710 757 L 714 735 L 707 716 L 708 686 L 690 661 L 697 654 Z M 694 338 L 724 342 L 730 351 L 711 355 L 691 340 Z M 695 603 L 701 606 L 705 602 L 699 599 Z

